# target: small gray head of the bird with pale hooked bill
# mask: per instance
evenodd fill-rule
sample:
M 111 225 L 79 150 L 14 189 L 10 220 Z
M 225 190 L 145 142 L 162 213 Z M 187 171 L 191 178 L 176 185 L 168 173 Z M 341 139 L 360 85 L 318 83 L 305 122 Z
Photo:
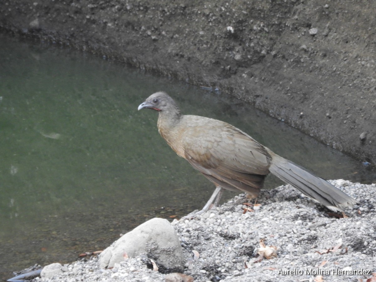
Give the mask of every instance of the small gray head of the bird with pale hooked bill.
M 161 113 L 180 113 L 175 101 L 168 96 L 166 92 L 156 92 L 150 95 L 144 103 L 138 106 L 138 110 L 145 108 L 153 109 Z

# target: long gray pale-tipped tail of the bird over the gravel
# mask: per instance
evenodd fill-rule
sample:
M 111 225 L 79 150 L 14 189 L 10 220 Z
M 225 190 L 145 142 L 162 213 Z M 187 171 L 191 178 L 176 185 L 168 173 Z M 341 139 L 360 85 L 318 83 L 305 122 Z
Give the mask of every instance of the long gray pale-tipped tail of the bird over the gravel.
M 272 156 L 269 168 L 272 174 L 332 211 L 342 211 L 342 208 L 356 203 L 352 197 L 305 168 L 274 153 Z

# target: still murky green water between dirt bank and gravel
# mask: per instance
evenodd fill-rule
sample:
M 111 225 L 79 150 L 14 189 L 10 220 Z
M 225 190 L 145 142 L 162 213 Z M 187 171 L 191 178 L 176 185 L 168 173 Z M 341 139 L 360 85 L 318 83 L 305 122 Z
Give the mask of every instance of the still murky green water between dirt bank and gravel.
M 0 278 L 74 261 L 152 217 L 202 208 L 214 185 L 159 136 L 155 111 L 137 111 L 160 90 L 183 113 L 232 123 L 324 178 L 375 179 L 360 162 L 220 92 L 1 36 Z M 268 177 L 265 186 L 279 184 Z

